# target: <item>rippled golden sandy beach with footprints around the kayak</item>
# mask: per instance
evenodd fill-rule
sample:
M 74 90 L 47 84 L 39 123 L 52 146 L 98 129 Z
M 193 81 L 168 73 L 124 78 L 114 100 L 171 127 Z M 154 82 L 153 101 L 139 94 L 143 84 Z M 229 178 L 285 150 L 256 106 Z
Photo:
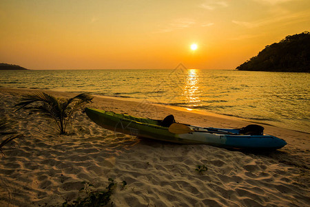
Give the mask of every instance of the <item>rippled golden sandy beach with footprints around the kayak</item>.
M 79 110 L 68 135 L 49 119 L 14 104 L 40 90 L 0 88 L 0 115 L 17 121 L 23 139 L 3 147 L 0 206 L 61 206 L 79 197 L 82 181 L 105 189 L 120 185 L 112 206 L 309 206 L 310 135 L 261 124 L 265 133 L 285 139 L 272 152 L 242 152 L 207 145 L 138 139 L 96 126 Z M 74 93 L 47 91 L 56 97 Z M 93 108 L 197 126 L 241 128 L 242 119 L 111 97 L 94 97 Z M 197 166 L 208 170 L 197 172 Z M 111 206 L 109 204 L 108 206 Z

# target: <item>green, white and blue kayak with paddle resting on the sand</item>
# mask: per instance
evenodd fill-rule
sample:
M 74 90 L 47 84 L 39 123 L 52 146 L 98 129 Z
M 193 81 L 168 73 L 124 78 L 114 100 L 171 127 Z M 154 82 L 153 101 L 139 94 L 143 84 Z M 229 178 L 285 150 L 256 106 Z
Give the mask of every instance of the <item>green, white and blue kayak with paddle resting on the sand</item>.
M 163 125 L 165 119 L 161 121 L 134 117 L 95 108 L 85 108 L 85 112 L 94 123 L 107 130 L 178 144 L 207 144 L 221 148 L 257 150 L 276 150 L 287 144 L 283 139 L 263 134 L 262 126 L 247 126 L 260 130 L 260 132 L 251 133 L 245 132 L 247 127 L 225 129 L 180 123 Z

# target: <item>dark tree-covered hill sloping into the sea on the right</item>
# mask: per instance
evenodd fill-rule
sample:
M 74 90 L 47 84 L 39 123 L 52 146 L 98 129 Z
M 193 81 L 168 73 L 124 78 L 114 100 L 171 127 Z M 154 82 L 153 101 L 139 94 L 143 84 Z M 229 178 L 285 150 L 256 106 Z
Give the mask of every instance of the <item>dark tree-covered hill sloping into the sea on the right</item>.
M 266 46 L 237 70 L 310 72 L 310 33 L 289 35 L 279 43 Z

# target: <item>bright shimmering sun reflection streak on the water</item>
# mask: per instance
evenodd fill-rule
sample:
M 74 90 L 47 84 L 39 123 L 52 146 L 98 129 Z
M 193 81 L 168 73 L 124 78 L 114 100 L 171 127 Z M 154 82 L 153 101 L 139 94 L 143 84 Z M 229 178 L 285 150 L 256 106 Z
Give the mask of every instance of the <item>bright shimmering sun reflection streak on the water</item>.
M 199 76 L 197 69 L 187 70 L 187 79 L 183 88 L 183 96 L 190 107 L 199 106 L 200 104 L 200 89 L 198 87 Z

